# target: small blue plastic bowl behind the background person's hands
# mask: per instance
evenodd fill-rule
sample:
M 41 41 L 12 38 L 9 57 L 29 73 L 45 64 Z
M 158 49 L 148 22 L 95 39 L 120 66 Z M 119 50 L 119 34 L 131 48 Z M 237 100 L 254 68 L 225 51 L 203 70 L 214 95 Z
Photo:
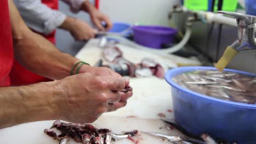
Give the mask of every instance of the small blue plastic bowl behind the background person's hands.
M 129 23 L 124 23 L 124 22 L 114 22 L 113 27 L 109 30 L 109 32 L 121 34 L 121 32 L 125 31 L 127 28 L 131 27 Z M 123 37 L 129 37 L 132 34 L 132 30 L 126 31 L 122 33 L 121 35 Z

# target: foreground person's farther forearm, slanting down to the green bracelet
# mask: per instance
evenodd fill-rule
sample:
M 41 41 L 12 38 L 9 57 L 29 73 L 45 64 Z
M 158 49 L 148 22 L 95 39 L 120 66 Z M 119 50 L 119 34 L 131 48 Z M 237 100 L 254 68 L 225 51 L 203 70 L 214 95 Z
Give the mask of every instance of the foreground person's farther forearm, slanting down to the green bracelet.
M 11 0 L 9 10 L 15 58 L 28 70 L 50 79 L 68 76 L 79 59 L 60 52 L 48 40 L 28 29 Z

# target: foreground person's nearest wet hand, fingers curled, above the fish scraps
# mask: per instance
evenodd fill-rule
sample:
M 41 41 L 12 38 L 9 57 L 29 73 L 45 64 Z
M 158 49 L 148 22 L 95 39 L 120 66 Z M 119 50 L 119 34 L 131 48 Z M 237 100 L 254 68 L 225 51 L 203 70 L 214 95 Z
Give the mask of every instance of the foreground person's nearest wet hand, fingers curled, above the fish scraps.
M 57 81 L 63 93 L 59 97 L 61 119 L 69 122 L 91 123 L 104 112 L 126 105 L 132 92 L 122 93 L 127 81 L 121 77 L 93 76 L 90 73 L 68 76 Z

